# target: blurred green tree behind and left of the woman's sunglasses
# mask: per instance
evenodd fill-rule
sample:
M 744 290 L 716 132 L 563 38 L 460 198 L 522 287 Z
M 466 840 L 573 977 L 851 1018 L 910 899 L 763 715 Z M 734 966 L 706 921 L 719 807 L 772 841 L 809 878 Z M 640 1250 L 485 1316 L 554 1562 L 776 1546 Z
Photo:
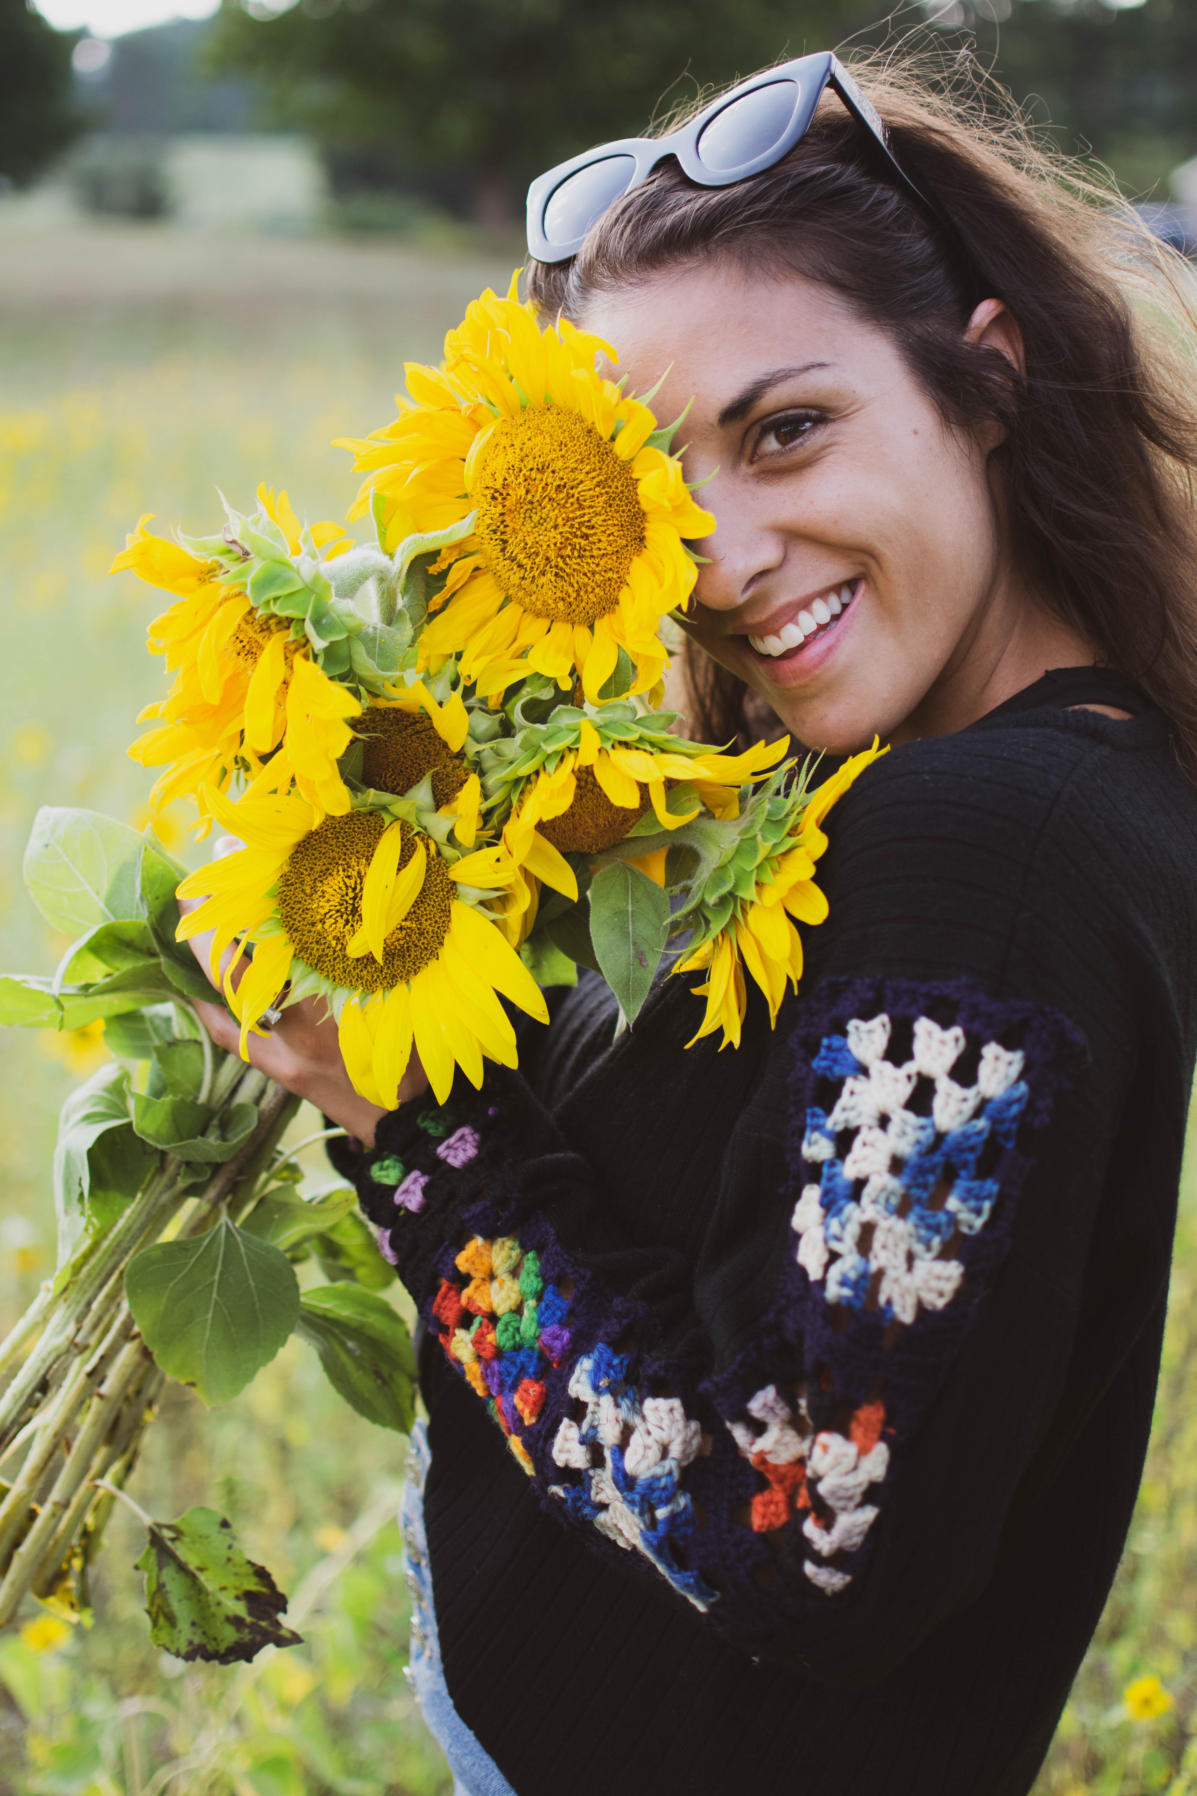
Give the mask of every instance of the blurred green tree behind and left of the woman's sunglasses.
M 869 0 L 301 0 L 262 20 L 224 0 L 217 56 L 264 75 L 334 172 L 354 147 L 398 180 L 468 171 L 476 214 L 501 221 L 542 167 L 872 16 Z

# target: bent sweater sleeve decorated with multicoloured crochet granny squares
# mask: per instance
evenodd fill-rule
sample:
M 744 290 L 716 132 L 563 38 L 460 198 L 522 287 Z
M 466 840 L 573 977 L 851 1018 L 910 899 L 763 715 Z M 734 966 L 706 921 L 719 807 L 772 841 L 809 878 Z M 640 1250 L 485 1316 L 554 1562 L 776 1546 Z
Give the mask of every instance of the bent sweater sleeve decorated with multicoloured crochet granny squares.
M 700 1307 L 686 1268 L 662 1250 L 637 1279 L 659 1306 L 626 1295 L 594 1171 L 519 1074 L 404 1106 L 359 1173 L 382 1252 L 546 1507 L 786 1658 L 874 1555 L 910 1561 L 892 1496 L 924 1480 L 928 1412 L 1077 1054 L 1059 1017 L 967 984 L 829 982 L 795 1018 L 788 1228 L 772 1306 L 727 1365 L 669 1358 L 659 1309 Z M 983 1455 L 958 1471 L 922 1491 L 930 1514 L 992 1483 Z

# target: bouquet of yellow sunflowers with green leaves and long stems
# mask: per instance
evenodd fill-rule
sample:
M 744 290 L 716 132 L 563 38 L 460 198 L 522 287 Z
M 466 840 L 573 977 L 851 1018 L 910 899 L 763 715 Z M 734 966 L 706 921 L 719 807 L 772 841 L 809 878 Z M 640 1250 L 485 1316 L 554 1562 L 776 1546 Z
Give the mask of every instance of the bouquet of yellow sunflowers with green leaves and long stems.
M 411 1349 L 377 1290 L 389 1268 L 352 1194 L 296 1193 L 278 1146 L 294 1101 L 212 1047 L 188 938 L 212 930 L 242 1056 L 278 1009 L 321 999 L 354 1087 L 386 1108 L 413 1052 L 441 1103 L 456 1069 L 477 1087 L 485 1058 L 513 1067 L 501 1000 L 544 1018 L 542 986 L 578 964 L 628 1024 L 662 959 L 698 970 L 695 1040 L 725 1045 L 745 973 L 770 1018 L 797 986 L 795 920 L 827 912 L 822 823 L 876 747 L 813 787 L 788 742 L 727 754 L 660 709 L 662 625 L 714 519 L 677 426 L 599 356 L 567 320 L 540 329 L 486 293 L 441 368 L 407 366 L 398 418 L 345 444 L 364 476 L 348 521 L 370 541 L 262 487 L 208 537 L 142 519 L 113 564 L 174 596 L 149 629 L 174 681 L 129 753 L 162 769 L 154 806 L 190 797 L 196 833 L 235 844 L 187 873 L 88 814 L 34 832 L 31 891 L 83 934 L 54 981 L 0 982 L 0 1020 L 102 1017 L 115 1060 L 63 1110 L 61 1266 L 0 1345 L 0 1372 L 27 1354 L 0 1397 L 0 1453 L 25 1448 L 0 1487 L 0 1625 L 29 1591 L 86 1607 L 165 1376 L 226 1401 L 298 1329 L 364 1415 L 411 1421 Z M 179 920 L 176 898 L 203 902 Z M 300 1295 L 300 1257 L 332 1282 Z M 296 1638 L 212 1510 L 144 1519 L 169 1651 Z

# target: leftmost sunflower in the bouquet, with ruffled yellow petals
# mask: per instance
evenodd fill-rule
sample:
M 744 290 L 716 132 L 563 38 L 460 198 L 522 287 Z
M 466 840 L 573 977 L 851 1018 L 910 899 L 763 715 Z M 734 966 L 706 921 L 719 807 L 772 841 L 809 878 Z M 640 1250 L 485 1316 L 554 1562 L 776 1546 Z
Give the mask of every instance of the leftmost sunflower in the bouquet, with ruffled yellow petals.
M 300 555 L 301 532 L 287 494 L 275 497 L 258 487 L 258 501 L 289 553 Z M 178 596 L 147 632 L 151 654 L 165 656 L 176 681 L 167 699 L 140 713 L 138 722 L 153 718 L 154 727 L 129 747 L 142 767 L 167 767 L 151 792 L 151 808 L 194 797 L 201 810 L 197 833 L 205 835 L 212 819 L 203 794 L 224 790 L 240 770 L 266 790 L 285 790 L 294 781 L 325 814 L 348 810 L 336 763 L 352 736 L 348 718 L 361 713 L 357 699 L 323 674 L 309 641 L 294 638 L 291 618 L 255 607 L 223 542 L 221 557 L 205 559 L 151 535 L 149 515 L 126 539 L 111 571 L 129 569 Z M 330 557 L 350 546 L 332 523 L 316 524 L 310 539 Z

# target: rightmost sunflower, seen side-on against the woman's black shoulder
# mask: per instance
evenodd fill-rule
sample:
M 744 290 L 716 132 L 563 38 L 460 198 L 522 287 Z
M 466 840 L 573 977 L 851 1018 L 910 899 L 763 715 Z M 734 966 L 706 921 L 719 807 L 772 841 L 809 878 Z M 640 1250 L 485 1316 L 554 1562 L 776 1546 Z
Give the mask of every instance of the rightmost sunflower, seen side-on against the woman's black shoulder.
M 822 823 L 856 776 L 885 753 L 874 740 L 813 792 L 802 783 L 786 792 L 790 769 L 779 769 L 747 801 L 718 864 L 700 869 L 695 891 L 673 918 L 675 930 L 693 930 L 675 972 L 707 972 L 705 984 L 695 986 L 707 1011 L 693 1042 L 721 1027 L 720 1047 L 739 1047 L 745 968 L 765 993 L 770 1027 L 777 1022 L 786 984 L 797 990 L 802 977 L 802 938 L 793 920 L 822 923 L 827 916 L 827 900 L 815 884 L 815 862 L 827 848 Z

